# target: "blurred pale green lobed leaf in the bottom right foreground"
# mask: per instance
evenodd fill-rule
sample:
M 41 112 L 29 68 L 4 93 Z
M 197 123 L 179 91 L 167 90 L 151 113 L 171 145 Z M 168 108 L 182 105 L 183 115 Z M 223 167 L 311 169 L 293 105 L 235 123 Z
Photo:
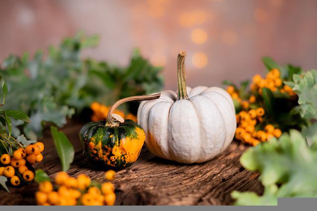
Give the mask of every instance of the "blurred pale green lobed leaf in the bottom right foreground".
M 316 144 L 316 139 L 314 140 Z M 284 133 L 256 147 L 249 148 L 240 159 L 248 170 L 261 172 L 263 196 L 237 191 L 236 205 L 277 205 L 277 198 L 317 197 L 317 147 L 308 147 L 297 130 Z

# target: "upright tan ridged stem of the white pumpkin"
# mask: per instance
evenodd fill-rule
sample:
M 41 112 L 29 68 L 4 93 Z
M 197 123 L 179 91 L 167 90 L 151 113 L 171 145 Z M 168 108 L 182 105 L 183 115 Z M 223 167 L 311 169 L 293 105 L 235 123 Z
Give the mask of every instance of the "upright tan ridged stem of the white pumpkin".
M 177 100 L 189 99 L 186 90 L 186 79 L 185 79 L 185 57 L 186 52 L 181 51 L 177 56 L 177 84 L 178 84 L 178 96 Z

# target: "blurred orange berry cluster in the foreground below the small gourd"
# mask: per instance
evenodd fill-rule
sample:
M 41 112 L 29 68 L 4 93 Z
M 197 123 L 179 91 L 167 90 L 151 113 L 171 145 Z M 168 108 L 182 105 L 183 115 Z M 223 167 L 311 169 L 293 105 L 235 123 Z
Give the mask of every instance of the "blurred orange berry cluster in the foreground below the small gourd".
M 106 172 L 106 178 L 114 178 L 115 172 Z M 55 176 L 56 187 L 50 181 L 41 182 L 35 197 L 38 205 L 59 206 L 102 206 L 114 205 L 114 185 L 111 182 L 92 185 L 91 179 L 85 174 L 77 178 L 69 176 L 66 172 L 58 172 Z

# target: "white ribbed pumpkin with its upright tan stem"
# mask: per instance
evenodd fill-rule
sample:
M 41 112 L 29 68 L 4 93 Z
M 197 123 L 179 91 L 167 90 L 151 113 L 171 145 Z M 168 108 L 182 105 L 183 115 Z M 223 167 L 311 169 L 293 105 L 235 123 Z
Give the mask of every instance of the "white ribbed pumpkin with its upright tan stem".
M 177 57 L 178 94 L 165 90 L 159 99 L 143 101 L 138 124 L 153 154 L 179 163 L 201 163 L 230 144 L 236 130 L 235 110 L 222 88 L 186 87 L 185 56 L 180 52 Z

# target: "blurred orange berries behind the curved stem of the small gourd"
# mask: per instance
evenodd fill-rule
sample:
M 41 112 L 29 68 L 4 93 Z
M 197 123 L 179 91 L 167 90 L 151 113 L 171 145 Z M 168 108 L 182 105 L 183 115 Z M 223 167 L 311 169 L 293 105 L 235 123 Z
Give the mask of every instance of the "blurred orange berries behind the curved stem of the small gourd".
M 107 107 L 107 106 L 102 105 L 98 102 L 93 102 L 90 105 L 90 108 L 94 112 L 94 114 L 91 117 L 91 120 L 96 122 L 96 121 L 100 121 L 100 120 L 105 120 L 107 113 L 111 107 Z M 113 113 L 120 115 L 123 119 L 133 120 L 134 122 L 137 122 L 137 117 L 131 113 L 125 115 L 122 111 L 120 111 L 118 109 L 116 109 Z

